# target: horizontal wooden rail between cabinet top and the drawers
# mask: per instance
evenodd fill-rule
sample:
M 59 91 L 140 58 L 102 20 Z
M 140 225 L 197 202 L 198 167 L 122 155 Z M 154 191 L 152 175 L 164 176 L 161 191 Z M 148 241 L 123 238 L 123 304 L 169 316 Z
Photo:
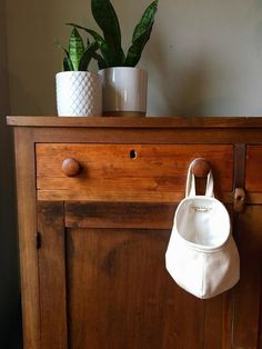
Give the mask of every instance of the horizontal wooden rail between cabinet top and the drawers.
M 262 143 L 260 128 L 32 128 L 36 142 L 140 143 L 140 144 L 234 144 Z

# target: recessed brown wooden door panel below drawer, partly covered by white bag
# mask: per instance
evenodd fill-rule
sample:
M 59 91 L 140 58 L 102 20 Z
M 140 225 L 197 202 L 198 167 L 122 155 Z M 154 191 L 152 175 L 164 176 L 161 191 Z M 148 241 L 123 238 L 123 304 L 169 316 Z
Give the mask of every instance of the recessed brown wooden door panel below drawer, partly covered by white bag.
M 229 348 L 229 295 L 202 301 L 180 289 L 164 268 L 169 236 L 67 230 L 70 348 Z

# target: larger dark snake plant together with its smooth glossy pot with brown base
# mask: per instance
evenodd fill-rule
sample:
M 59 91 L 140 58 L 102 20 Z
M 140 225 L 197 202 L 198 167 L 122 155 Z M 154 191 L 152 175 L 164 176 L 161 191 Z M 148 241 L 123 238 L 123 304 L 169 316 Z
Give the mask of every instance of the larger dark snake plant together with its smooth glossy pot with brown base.
M 135 26 L 132 42 L 127 54 L 121 44 L 121 30 L 118 16 L 110 0 L 91 0 L 93 18 L 102 36 L 82 26 L 72 24 L 85 30 L 93 37 L 100 54 L 93 57 L 100 68 L 103 86 L 103 113 L 144 116 L 147 112 L 148 72 L 137 68 L 145 43 L 150 39 L 158 0 L 154 0 L 143 12 Z

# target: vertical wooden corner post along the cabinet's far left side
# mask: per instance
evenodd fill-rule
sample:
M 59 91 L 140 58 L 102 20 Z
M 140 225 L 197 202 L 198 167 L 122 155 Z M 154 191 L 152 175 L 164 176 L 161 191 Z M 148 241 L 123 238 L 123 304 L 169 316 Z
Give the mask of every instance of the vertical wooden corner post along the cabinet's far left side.
M 26 349 L 40 349 L 36 170 L 31 129 L 14 129 L 14 139 L 23 345 Z

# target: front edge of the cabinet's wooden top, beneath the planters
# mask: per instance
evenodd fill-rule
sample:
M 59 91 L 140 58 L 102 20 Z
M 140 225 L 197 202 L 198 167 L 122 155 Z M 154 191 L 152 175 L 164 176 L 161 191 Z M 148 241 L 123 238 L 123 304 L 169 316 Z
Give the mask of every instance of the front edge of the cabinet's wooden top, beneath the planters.
M 9 126 L 103 128 L 258 128 L 262 117 L 8 117 Z

